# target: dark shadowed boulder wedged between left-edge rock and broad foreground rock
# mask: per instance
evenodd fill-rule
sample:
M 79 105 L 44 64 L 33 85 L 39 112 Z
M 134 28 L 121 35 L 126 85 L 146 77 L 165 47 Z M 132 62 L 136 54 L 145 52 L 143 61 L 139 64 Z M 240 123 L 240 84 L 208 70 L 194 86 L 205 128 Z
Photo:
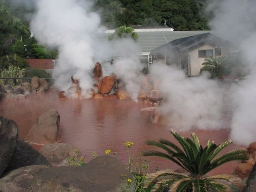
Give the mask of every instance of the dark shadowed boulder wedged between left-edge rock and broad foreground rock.
M 22 140 L 17 140 L 17 147 L 14 151 L 12 160 L 5 169 L 5 173 L 30 165 L 51 166 L 47 159 L 32 146 Z

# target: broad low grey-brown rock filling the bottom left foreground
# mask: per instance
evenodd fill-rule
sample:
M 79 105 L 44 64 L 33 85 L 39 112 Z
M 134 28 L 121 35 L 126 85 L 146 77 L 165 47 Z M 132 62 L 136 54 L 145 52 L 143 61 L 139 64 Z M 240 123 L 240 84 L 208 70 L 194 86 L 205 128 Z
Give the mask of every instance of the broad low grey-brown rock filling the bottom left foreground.
M 127 183 L 128 178 L 131 183 Z M 26 166 L 0 179 L 0 186 L 2 192 L 120 192 L 135 189 L 132 175 L 111 156 L 97 157 L 82 167 Z

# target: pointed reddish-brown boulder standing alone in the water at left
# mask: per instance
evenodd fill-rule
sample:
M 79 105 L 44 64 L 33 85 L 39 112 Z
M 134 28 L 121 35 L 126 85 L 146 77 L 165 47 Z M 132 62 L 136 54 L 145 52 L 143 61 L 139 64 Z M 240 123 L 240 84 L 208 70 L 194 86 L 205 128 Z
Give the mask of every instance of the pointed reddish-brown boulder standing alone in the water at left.
M 49 109 L 41 114 L 36 124 L 30 128 L 26 137 L 31 143 L 57 143 L 61 140 L 59 132 L 60 115 L 56 109 Z

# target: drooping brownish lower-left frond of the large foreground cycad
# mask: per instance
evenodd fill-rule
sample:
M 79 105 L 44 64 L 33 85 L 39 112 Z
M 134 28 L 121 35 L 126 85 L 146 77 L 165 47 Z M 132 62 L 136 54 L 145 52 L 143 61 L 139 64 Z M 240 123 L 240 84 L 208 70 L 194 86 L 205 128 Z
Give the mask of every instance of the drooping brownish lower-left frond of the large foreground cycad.
M 189 176 L 187 176 L 187 175 L 185 175 L 185 174 L 176 173 L 176 172 L 173 172 L 173 171 L 170 170 L 170 169 L 166 169 L 166 170 L 157 171 L 157 172 L 148 174 L 148 175 L 146 176 L 145 182 L 143 183 L 143 186 L 144 186 L 145 188 L 147 188 L 147 187 L 150 186 L 151 184 L 156 183 L 157 180 L 158 180 L 160 177 L 165 177 L 165 176 L 169 176 L 170 179 L 178 179 L 178 178 L 189 177 Z

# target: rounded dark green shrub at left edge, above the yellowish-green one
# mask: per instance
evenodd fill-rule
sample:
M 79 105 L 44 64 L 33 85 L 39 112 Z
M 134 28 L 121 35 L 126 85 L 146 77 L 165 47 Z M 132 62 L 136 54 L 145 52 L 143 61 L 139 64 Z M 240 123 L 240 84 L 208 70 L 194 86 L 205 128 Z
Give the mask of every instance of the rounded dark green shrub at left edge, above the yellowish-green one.
M 17 66 L 20 69 L 29 67 L 29 64 L 25 61 L 25 59 L 14 55 L 4 55 L 0 57 L 0 69 L 8 69 L 9 65 Z

